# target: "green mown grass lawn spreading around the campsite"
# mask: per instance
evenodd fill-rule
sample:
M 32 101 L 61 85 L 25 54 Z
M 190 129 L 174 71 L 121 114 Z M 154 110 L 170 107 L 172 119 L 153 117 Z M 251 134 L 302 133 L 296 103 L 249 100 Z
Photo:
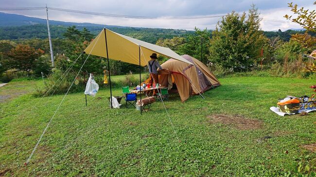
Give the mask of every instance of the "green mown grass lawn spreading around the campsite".
M 316 144 L 316 113 L 281 117 L 269 110 L 287 95 L 310 96 L 315 80 L 220 82 L 205 99 L 193 96 L 181 103 L 172 95 L 165 102 L 180 143 L 160 102 L 140 115 L 132 108 L 111 110 L 109 89 L 88 97 L 87 107 L 83 93 L 70 94 L 27 166 L 23 163 L 63 96 L 41 99 L 29 93 L 9 99 L 0 103 L 0 176 L 316 175 L 316 153 L 304 148 Z M 18 92 L 18 83 L 1 87 L 0 94 Z M 29 84 L 26 90 L 35 83 L 20 82 Z M 121 95 L 118 88 L 113 92 Z

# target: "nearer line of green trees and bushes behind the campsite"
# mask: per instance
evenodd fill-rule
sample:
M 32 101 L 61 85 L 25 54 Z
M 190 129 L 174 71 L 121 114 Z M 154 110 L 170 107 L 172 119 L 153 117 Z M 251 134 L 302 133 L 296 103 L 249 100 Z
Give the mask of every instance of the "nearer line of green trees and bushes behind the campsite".
M 292 5 L 291 8 L 294 6 Z M 298 20 L 292 19 L 294 22 L 301 23 L 303 20 L 304 23 L 301 26 L 305 31 L 291 31 L 296 33 L 290 35 L 289 41 L 284 41 L 278 35 L 269 37 L 261 30 L 262 18 L 254 5 L 251 6 L 247 15 L 246 13 L 231 12 L 223 16 L 213 31 L 198 28 L 195 28 L 193 33 L 143 28 L 120 28 L 118 31 L 121 30 L 119 32 L 146 42 L 169 47 L 180 55 L 191 55 L 207 64 L 212 70 L 242 72 L 261 69 L 264 65 L 271 69 L 277 69 L 280 74 L 289 75 L 295 72 L 300 73 L 305 66 L 313 67 L 314 61 L 309 61 L 304 55 L 308 55 L 315 49 L 316 44 L 315 12 L 311 12 L 314 13 L 311 16 L 301 14 L 306 13 L 306 10 L 292 9 L 292 12 L 300 17 Z M 280 35 L 282 33 L 281 30 L 277 32 Z M 162 36 L 159 36 L 160 34 Z M 47 39 L 1 41 L 0 72 L 15 69 L 16 71 L 25 71 L 27 75 L 32 71 L 35 76 L 39 76 L 41 72 L 48 75 L 56 69 L 65 71 L 77 60 L 80 53 L 95 36 L 96 33 L 90 32 L 87 28 L 79 29 L 75 26 L 65 28 L 62 39 L 53 40 L 55 56 L 53 70 Z M 160 57 L 159 62 L 163 63 L 167 59 Z M 82 62 L 76 62 L 72 69 L 78 70 L 81 64 Z M 138 71 L 135 65 L 113 60 L 110 60 L 110 68 L 113 74 Z M 105 59 L 97 56 L 90 56 L 85 65 L 85 70 L 89 73 L 102 74 L 103 70 L 107 69 Z

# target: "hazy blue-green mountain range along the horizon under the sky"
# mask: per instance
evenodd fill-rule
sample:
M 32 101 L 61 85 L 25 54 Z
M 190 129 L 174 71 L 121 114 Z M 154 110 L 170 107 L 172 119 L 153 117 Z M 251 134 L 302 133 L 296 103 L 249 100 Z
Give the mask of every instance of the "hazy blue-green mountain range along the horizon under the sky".
M 87 28 L 94 35 L 98 34 L 103 28 L 108 28 L 130 37 L 134 37 L 146 42 L 156 43 L 159 38 L 173 38 L 175 36 L 185 37 L 194 34 L 194 31 L 174 30 L 162 28 L 135 28 L 126 26 L 102 25 L 94 23 L 74 23 L 50 20 L 52 38 L 65 38 L 63 34 L 67 27 L 76 26 L 82 30 Z M 286 32 L 263 32 L 269 38 L 280 37 L 284 41 L 291 38 L 291 34 L 303 33 L 304 29 L 290 29 Z M 315 35 L 315 34 L 312 34 Z M 17 14 L 7 14 L 0 12 L 0 40 L 24 40 L 24 39 L 47 39 L 46 19 L 22 16 Z

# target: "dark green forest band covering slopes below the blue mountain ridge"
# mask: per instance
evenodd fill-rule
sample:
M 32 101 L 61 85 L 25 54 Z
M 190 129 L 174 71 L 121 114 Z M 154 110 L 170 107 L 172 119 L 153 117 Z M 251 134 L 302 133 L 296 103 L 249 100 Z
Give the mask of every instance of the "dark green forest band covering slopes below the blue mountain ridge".
M 51 35 L 53 39 L 65 39 L 63 35 L 67 31 L 67 26 L 51 25 Z M 88 29 L 93 35 L 97 35 L 103 27 L 101 26 L 76 26 L 78 30 L 83 28 Z M 155 44 L 159 38 L 173 38 L 174 36 L 185 37 L 189 34 L 194 34 L 194 31 L 188 30 L 175 30 L 175 29 L 163 29 L 163 28 L 134 28 L 134 27 L 109 27 L 111 31 L 118 32 L 130 37 L 134 37 L 152 44 Z M 268 38 L 279 37 L 283 41 L 289 41 L 291 35 L 296 33 L 304 33 L 303 29 L 298 30 L 286 30 L 282 32 L 262 31 Z M 315 36 L 315 33 L 310 33 Z M 24 25 L 24 26 L 8 26 L 0 27 L 0 40 L 25 40 L 25 39 L 47 39 L 47 25 Z

